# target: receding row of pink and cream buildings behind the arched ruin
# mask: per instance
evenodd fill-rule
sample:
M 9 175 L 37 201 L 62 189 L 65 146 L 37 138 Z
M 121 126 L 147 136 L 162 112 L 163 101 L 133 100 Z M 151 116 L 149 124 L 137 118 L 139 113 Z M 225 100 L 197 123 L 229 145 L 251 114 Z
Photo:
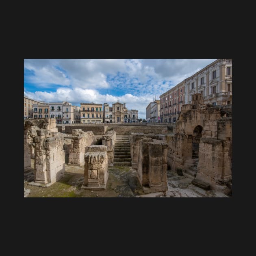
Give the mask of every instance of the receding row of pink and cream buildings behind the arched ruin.
M 232 59 L 217 59 L 160 95 L 160 120 L 175 123 L 183 104 L 201 93 L 205 104 L 232 104 Z

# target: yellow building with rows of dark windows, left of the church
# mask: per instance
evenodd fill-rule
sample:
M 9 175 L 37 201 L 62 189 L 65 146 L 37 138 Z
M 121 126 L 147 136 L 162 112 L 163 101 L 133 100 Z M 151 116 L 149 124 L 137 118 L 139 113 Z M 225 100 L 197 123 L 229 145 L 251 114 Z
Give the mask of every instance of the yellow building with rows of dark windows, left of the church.
M 80 103 L 80 114 L 82 124 L 96 124 L 103 122 L 102 104 Z

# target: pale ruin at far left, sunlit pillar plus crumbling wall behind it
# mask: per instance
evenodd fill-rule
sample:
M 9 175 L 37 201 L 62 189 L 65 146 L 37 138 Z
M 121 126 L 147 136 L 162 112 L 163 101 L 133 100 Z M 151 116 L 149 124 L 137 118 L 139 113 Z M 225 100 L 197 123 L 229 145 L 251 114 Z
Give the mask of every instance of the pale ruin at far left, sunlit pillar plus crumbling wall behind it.
M 37 136 L 34 136 L 35 131 Z M 32 139 L 32 140 L 31 140 Z M 64 176 L 63 135 L 54 118 L 24 120 L 24 170 L 31 169 L 29 143 L 35 141 L 34 182 L 49 186 Z

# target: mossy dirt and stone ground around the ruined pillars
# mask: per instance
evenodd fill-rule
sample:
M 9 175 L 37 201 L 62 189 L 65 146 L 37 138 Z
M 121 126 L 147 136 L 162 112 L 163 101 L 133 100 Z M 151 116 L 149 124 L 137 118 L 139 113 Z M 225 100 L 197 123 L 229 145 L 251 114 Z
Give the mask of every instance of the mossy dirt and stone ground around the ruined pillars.
M 31 166 L 34 160 L 31 159 Z M 129 166 L 109 167 L 105 190 L 81 189 L 84 181 L 84 167 L 65 165 L 64 177 L 50 187 L 32 186 L 33 171 L 24 173 L 24 197 L 228 197 L 222 192 L 205 191 L 191 184 L 192 178 L 167 171 L 168 191 L 146 195 L 137 179 L 136 171 Z

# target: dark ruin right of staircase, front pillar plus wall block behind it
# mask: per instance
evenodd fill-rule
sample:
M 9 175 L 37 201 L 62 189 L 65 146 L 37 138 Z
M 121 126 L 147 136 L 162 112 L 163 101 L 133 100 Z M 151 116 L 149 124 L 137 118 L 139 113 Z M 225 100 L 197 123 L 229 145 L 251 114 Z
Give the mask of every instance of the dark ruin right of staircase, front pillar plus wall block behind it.
M 131 133 L 132 168 L 144 193 L 167 191 L 167 148 L 164 135 Z

